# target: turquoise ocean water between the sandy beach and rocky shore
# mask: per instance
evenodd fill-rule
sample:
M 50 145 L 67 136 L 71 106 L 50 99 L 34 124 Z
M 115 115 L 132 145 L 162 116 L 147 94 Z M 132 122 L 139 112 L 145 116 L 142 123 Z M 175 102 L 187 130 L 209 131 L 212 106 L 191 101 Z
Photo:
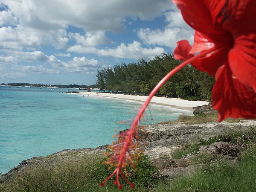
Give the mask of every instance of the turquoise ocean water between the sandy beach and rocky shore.
M 111 144 L 116 122 L 136 116 L 140 102 L 65 93 L 67 89 L 0 86 L 0 172 L 22 160 L 63 149 Z M 70 89 L 72 91 L 72 89 Z M 73 91 L 77 91 L 73 89 Z M 88 96 L 89 95 L 89 96 Z M 132 113 L 128 113 L 132 111 Z M 191 111 L 149 105 L 146 124 L 175 120 Z M 153 120 L 151 120 L 153 119 Z M 120 126 L 120 130 L 129 128 Z

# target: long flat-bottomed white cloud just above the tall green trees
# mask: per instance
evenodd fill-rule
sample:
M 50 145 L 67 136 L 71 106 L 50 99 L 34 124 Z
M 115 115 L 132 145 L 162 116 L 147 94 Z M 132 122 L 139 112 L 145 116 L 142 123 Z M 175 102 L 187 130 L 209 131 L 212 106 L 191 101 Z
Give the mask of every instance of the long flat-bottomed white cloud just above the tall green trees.
M 75 45 L 68 49 L 69 52 L 77 53 L 93 53 L 99 56 L 111 56 L 115 58 L 133 58 L 146 60 L 154 58 L 155 55 L 160 55 L 164 52 L 161 47 L 143 48 L 138 41 L 134 41 L 127 46 L 122 43 L 114 49 L 96 49 L 95 47 L 83 47 L 81 45 Z

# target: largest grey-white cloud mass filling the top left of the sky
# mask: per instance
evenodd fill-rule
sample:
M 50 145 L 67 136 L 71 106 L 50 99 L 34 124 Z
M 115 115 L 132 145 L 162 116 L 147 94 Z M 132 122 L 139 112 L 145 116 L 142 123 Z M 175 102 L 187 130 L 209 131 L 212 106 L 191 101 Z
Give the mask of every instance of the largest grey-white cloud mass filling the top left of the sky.
M 0 23 L 11 26 L 0 29 L 0 49 L 35 49 L 52 45 L 67 47 L 69 26 L 83 28 L 84 36 L 70 33 L 78 44 L 109 44 L 105 31 L 125 30 L 124 19 L 153 19 L 172 5 L 169 0 L 2 0 L 8 10 L 1 12 Z M 3 5 L 3 4 L 2 4 Z M 129 24 L 129 23 L 128 23 Z

